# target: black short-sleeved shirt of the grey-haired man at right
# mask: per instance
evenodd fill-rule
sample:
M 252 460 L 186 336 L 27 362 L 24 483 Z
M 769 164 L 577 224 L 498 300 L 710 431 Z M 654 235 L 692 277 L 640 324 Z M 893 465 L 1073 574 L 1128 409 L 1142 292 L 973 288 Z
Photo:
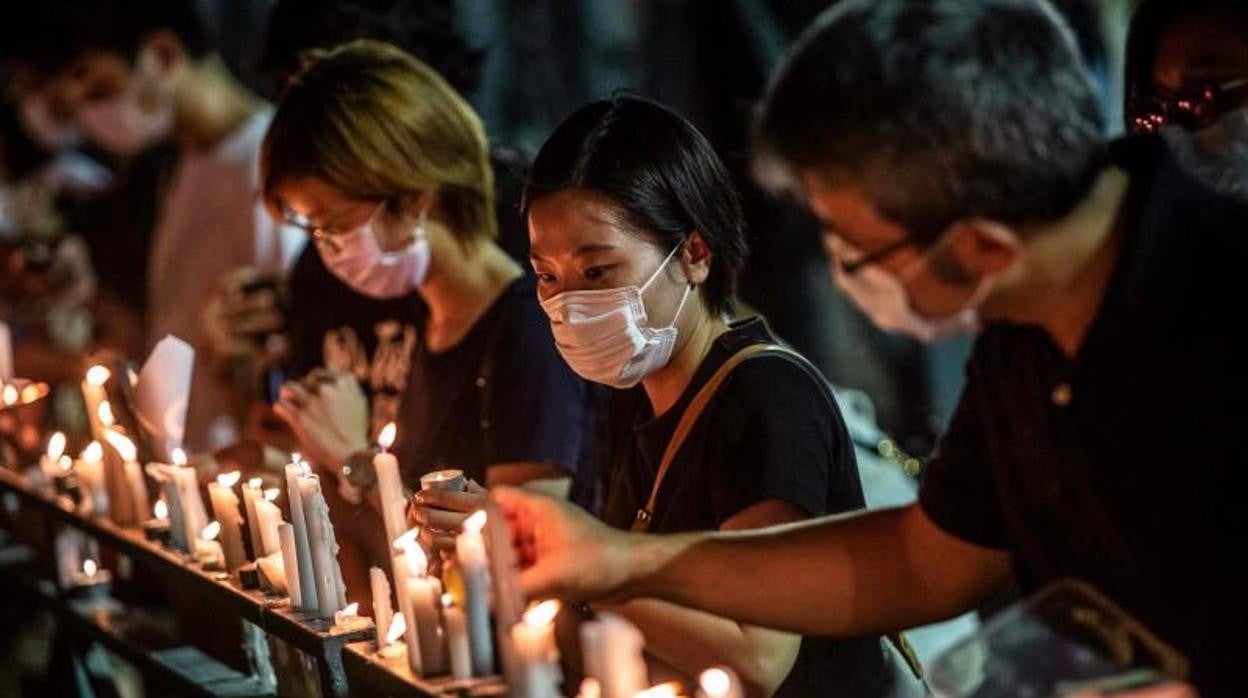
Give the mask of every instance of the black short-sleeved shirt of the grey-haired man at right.
M 920 502 L 958 538 L 1010 551 L 1025 591 L 1077 577 L 1242 692 L 1248 574 L 1248 209 L 1156 139 L 1116 144 L 1131 174 L 1123 251 L 1076 357 L 991 325 L 967 365 Z

